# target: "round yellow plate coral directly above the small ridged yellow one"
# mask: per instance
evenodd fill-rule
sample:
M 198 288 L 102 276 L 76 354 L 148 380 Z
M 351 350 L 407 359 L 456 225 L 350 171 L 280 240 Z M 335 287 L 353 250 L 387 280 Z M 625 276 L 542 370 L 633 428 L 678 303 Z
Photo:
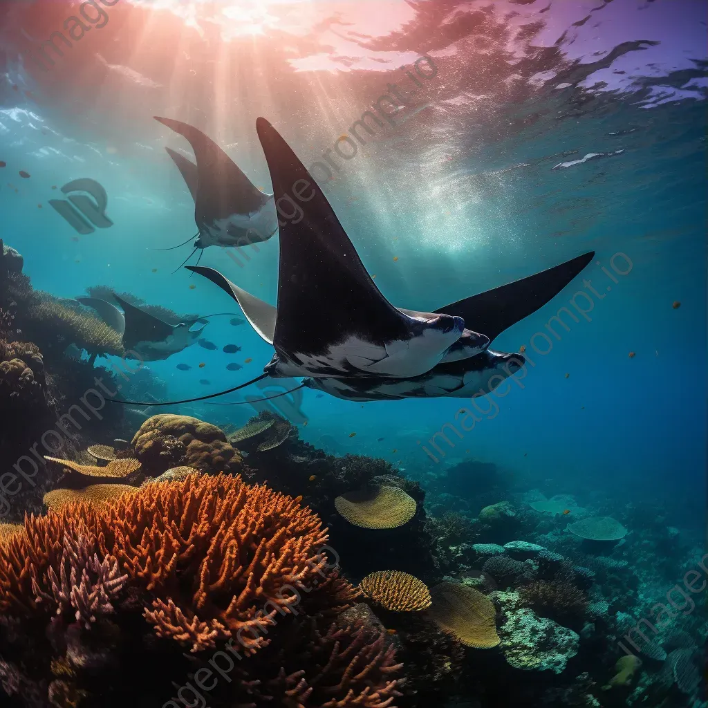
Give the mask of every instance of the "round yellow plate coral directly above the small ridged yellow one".
M 367 529 L 393 529 L 416 514 L 416 500 L 394 486 L 375 486 L 338 496 L 336 510 L 350 524 Z

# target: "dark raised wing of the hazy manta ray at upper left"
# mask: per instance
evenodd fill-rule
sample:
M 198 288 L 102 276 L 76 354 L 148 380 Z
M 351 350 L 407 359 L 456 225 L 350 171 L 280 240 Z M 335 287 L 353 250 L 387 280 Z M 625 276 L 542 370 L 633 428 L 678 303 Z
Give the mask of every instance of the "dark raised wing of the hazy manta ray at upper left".
M 171 118 L 159 118 L 163 125 L 190 142 L 197 159 L 198 189 L 195 199 L 197 222 L 226 219 L 233 214 L 257 212 L 268 195 L 258 190 L 239 166 L 201 130 Z

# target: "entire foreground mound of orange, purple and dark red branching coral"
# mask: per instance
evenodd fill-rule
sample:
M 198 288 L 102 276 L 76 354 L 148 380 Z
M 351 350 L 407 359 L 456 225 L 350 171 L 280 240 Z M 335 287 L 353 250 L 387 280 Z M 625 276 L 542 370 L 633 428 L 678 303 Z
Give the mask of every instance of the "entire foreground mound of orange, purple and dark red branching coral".
M 118 707 L 136 680 L 141 705 L 163 704 L 212 656 L 232 673 L 209 692 L 215 708 L 392 708 L 400 695 L 392 642 L 338 619 L 358 591 L 289 496 L 190 474 L 27 516 L 25 531 L 0 544 L 14 628 L 0 627 L 0 675 L 18 705 Z

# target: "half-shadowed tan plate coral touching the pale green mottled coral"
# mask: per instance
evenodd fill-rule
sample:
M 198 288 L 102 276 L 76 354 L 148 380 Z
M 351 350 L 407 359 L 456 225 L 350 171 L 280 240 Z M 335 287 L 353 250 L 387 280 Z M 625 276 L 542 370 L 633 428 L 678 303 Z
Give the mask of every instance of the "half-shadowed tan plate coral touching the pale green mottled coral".
M 430 595 L 433 604 L 428 612 L 443 632 L 476 649 L 499 644 L 496 610 L 486 595 L 461 583 L 440 583 Z

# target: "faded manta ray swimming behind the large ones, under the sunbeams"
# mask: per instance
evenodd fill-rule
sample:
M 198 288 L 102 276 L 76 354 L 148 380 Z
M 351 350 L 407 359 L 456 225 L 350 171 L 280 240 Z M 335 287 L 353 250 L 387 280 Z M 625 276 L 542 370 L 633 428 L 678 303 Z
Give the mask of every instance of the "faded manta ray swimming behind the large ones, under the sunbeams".
M 188 139 L 197 160 L 194 164 L 180 153 L 165 148 L 183 176 L 195 204 L 198 239 L 194 242 L 194 251 L 181 265 L 199 249 L 203 251 L 208 246 L 247 246 L 268 241 L 278 231 L 278 213 L 273 195 L 256 188 L 212 139 L 179 120 L 158 116 L 155 120 Z M 171 251 L 188 241 L 171 249 L 159 250 Z

